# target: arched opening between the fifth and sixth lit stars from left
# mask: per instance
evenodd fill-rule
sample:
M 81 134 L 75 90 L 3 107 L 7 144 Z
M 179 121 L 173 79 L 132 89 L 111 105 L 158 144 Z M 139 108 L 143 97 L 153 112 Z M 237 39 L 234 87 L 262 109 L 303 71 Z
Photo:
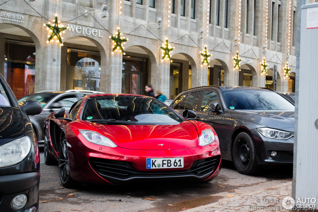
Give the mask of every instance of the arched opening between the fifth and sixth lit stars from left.
M 249 64 L 243 64 L 240 68 L 239 86 L 257 87 L 257 73 L 255 68 Z

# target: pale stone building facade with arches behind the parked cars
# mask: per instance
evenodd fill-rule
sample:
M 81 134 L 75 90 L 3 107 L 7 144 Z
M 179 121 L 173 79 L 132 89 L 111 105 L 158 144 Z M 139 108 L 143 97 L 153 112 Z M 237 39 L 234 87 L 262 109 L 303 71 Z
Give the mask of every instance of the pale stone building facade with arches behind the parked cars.
M 294 92 L 296 7 L 294 0 L 5 1 L 0 73 L 17 98 L 69 89 L 143 95 L 152 84 L 173 99 L 205 85 L 273 88 L 275 65 L 274 89 Z M 47 43 L 52 32 L 45 24 L 55 15 L 68 27 L 63 46 L 54 38 Z M 125 55 L 113 51 L 109 38 L 118 30 L 128 38 Z M 162 61 L 166 39 L 174 47 L 172 62 Z M 202 66 L 205 46 L 210 67 Z M 233 69 L 237 50 L 241 71 Z M 264 56 L 267 75 L 261 73 Z M 290 79 L 284 78 L 287 61 Z

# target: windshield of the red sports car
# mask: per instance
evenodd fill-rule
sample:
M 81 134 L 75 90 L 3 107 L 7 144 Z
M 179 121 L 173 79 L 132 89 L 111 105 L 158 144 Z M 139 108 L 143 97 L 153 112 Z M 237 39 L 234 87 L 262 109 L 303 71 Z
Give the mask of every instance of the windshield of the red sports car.
M 184 121 L 161 101 L 143 96 L 100 96 L 88 98 L 83 120 L 132 122 L 136 124 L 174 125 Z

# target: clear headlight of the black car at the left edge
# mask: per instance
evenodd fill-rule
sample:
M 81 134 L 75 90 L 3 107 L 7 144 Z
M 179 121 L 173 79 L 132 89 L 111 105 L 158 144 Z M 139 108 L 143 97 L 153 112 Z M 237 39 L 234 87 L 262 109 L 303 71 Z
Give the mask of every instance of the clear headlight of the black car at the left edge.
M 31 139 L 24 136 L 0 146 L 0 167 L 21 162 L 31 150 Z

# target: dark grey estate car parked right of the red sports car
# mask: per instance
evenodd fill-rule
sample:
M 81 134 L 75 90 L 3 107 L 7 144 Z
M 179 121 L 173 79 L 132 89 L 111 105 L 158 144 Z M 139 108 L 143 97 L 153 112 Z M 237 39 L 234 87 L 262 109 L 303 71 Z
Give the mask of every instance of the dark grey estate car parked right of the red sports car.
M 294 105 L 266 88 L 205 86 L 179 94 L 170 105 L 216 131 L 222 159 L 232 160 L 242 174 L 262 165 L 292 164 Z

